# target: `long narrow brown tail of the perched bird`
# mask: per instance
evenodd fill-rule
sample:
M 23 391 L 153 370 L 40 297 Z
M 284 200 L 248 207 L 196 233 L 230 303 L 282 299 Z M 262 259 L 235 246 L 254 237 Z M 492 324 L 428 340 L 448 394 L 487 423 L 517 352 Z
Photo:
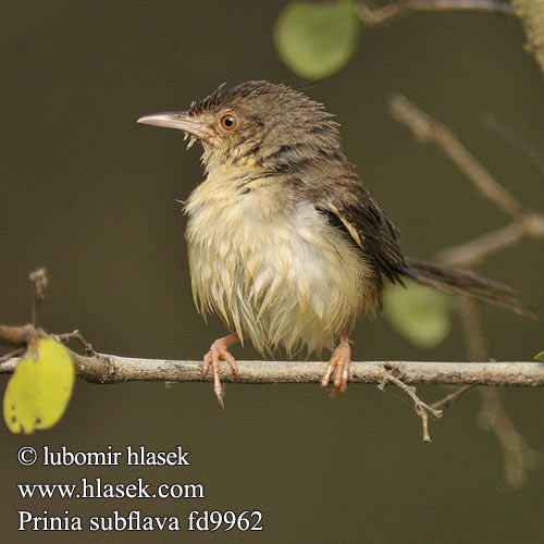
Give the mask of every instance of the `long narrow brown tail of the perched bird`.
M 406 263 L 416 275 L 415 280 L 423 285 L 447 293 L 468 295 L 483 302 L 507 308 L 520 316 L 536 319 L 536 314 L 523 305 L 518 292 L 508 285 L 495 282 L 475 272 L 425 262 L 412 257 L 407 257 Z

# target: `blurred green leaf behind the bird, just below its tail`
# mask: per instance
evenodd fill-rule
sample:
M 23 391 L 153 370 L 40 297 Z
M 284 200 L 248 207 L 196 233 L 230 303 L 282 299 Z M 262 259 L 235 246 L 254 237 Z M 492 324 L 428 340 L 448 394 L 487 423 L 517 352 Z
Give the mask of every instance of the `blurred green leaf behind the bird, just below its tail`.
M 412 344 L 432 348 L 452 329 L 452 299 L 448 295 L 409 282 L 408 287 L 392 285 L 384 294 L 385 317 Z

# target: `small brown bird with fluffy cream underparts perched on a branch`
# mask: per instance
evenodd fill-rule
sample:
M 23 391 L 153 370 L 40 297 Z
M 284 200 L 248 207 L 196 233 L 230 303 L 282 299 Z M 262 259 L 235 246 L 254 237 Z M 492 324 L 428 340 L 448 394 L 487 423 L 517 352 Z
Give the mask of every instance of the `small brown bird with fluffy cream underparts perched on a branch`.
M 332 396 L 345 392 L 348 333 L 361 312 L 381 307 L 385 281 L 524 312 L 506 285 L 405 257 L 398 230 L 346 159 L 333 115 L 299 91 L 223 84 L 187 111 L 138 123 L 185 131 L 187 147 L 203 146 L 207 177 L 186 201 L 186 238 L 196 307 L 231 331 L 203 357 L 221 405 L 220 363 L 236 374 L 228 347 L 246 338 L 263 355 L 331 349 L 321 384 L 333 381 Z

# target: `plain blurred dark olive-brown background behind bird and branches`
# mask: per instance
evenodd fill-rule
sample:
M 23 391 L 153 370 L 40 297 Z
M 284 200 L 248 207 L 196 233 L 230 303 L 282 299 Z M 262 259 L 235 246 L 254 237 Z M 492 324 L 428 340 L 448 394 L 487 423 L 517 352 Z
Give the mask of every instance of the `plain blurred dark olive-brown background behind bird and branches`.
M 523 202 L 544 210 L 544 178 L 481 122 L 491 112 L 542 147 L 544 85 L 523 52 L 519 21 L 479 13 L 418 14 L 362 34 L 336 75 L 305 83 L 281 62 L 273 23 L 284 2 L 15 1 L 0 4 L 0 322 L 30 316 L 27 274 L 50 277 L 40 324 L 78 327 L 102 353 L 199 359 L 223 334 L 194 309 L 181 205 L 202 178 L 199 149 L 183 134 L 137 125 L 184 109 L 220 83 L 267 78 L 306 90 L 342 124 L 347 156 L 403 232 L 407 254 L 505 225 L 463 175 L 421 146 L 387 111 L 400 91 L 447 123 Z M 544 306 L 544 244 L 497 255 L 485 273 Z M 482 308 L 490 356 L 530 360 L 544 349 L 542 320 Z M 463 360 L 458 323 L 422 351 L 385 320 L 363 320 L 356 360 Z M 239 359 L 256 354 L 234 349 Z M 4 384 L 7 378 L 2 376 Z M 421 387 L 426 400 L 443 387 Z M 542 390 L 502 392 L 518 430 L 544 452 Z M 11 435 L 1 426 L 2 542 L 542 542 L 544 469 L 512 490 L 492 432 L 468 394 L 421 442 L 409 401 L 392 387 L 351 385 L 330 400 L 317 385 L 227 385 L 223 413 L 210 384 L 77 382 L 51 431 Z M 190 450 L 190 467 L 34 467 L 23 445 L 103 450 L 108 445 Z M 26 499 L 16 483 L 199 482 L 205 499 Z M 261 510 L 252 533 L 17 532 L 16 510 L 42 515 L 177 516 L 190 510 Z M 185 526 L 185 523 L 182 523 Z

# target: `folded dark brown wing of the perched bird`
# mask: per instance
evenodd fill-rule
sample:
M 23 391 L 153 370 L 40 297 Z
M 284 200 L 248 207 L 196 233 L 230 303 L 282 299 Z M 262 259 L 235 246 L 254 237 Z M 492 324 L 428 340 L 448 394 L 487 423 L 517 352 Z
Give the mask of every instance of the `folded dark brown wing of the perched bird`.
M 316 208 L 339 220 L 330 223 L 349 233 L 380 274 L 400 283 L 401 276 L 412 275 L 398 245 L 398 228 L 351 168 L 313 172 L 305 176 L 305 182 Z

